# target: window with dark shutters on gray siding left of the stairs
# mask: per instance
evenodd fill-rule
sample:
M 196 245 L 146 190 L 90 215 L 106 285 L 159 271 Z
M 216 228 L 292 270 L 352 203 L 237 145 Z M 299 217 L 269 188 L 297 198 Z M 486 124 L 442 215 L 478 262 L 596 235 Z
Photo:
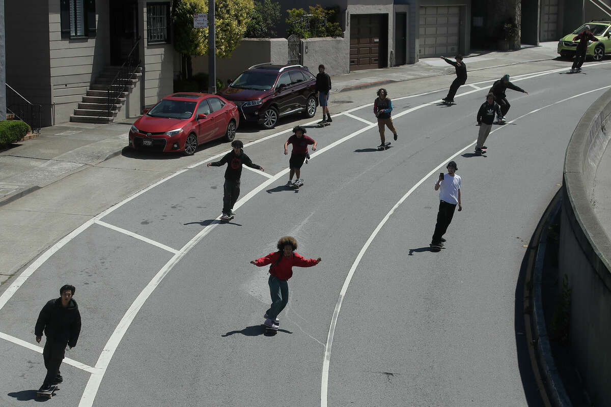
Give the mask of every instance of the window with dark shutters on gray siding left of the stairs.
M 95 37 L 95 0 L 60 0 L 62 38 Z

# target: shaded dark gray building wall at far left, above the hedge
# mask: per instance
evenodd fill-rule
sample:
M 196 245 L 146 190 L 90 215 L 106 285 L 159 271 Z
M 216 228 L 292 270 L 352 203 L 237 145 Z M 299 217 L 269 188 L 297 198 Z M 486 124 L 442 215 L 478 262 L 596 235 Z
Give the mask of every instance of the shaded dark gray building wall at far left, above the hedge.
M 8 0 L 4 10 L 6 83 L 31 103 L 41 104 L 42 126 L 51 126 L 49 4 Z M 11 99 L 9 92 L 7 100 Z

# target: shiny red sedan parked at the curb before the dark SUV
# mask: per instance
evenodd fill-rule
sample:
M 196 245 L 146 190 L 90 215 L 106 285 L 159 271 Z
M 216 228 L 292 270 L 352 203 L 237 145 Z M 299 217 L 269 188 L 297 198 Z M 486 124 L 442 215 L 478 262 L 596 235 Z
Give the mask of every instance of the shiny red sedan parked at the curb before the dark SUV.
M 235 104 L 207 93 L 174 93 L 161 99 L 130 129 L 130 146 L 144 151 L 183 151 L 192 156 L 210 140 L 235 138 L 240 113 Z

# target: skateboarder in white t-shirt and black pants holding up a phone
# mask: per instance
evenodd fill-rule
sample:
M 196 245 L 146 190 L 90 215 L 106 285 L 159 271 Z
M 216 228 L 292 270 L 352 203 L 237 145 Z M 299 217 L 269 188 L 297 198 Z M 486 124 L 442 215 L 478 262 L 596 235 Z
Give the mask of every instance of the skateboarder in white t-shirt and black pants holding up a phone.
M 433 239 L 431 239 L 431 246 L 444 245 L 443 236 L 452 222 L 456 205 L 458 205 L 459 212 L 463 210 L 460 201 L 461 178 L 456 175 L 456 170 L 458 170 L 456 162 L 448 162 L 446 168 L 448 173 L 439 174 L 439 179 L 435 184 L 435 190 L 439 190 L 439 212 L 437 212 L 437 224 L 433 232 Z

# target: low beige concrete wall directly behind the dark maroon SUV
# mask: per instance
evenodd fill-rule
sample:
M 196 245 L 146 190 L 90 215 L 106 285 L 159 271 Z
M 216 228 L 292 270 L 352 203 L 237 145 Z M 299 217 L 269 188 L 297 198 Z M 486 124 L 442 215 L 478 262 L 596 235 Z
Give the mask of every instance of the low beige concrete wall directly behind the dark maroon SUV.
M 284 65 L 288 60 L 286 38 L 242 38 L 229 58 L 216 59 L 216 77 L 223 82 L 235 79 L 242 71 L 257 63 Z M 208 57 L 192 57 L 193 74 L 208 73 Z

